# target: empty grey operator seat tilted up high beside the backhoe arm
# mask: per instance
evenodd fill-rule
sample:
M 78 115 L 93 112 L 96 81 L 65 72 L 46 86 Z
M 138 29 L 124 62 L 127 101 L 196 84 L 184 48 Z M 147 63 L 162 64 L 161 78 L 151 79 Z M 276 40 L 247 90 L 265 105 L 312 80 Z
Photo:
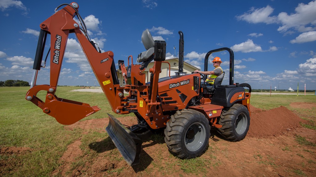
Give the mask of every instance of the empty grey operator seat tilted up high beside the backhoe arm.
M 155 52 L 155 42 L 148 29 L 146 29 L 142 34 L 142 42 L 146 51 L 138 55 L 138 62 L 146 62 L 154 55 Z

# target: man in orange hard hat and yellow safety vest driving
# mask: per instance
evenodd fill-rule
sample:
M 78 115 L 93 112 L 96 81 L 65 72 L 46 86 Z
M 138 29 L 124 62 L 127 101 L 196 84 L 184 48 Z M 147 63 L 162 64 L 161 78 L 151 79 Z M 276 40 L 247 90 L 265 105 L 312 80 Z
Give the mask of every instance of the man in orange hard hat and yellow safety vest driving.
M 213 66 L 215 67 L 215 69 L 213 71 L 199 71 L 199 70 L 194 71 L 194 73 L 201 73 L 201 74 L 209 75 L 207 77 L 207 79 L 205 80 L 205 82 L 209 83 L 211 85 L 214 84 L 215 78 L 223 73 L 223 69 L 220 66 L 222 63 L 221 58 L 215 57 L 212 62 L 213 62 Z

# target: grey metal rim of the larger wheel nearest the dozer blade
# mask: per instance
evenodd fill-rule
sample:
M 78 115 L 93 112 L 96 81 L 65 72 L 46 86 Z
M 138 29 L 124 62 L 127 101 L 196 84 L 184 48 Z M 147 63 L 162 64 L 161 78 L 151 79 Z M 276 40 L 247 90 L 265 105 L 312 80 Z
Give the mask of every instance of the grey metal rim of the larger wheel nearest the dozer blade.
M 185 147 L 190 151 L 197 151 L 204 146 L 206 137 L 205 127 L 202 123 L 193 123 L 185 132 Z

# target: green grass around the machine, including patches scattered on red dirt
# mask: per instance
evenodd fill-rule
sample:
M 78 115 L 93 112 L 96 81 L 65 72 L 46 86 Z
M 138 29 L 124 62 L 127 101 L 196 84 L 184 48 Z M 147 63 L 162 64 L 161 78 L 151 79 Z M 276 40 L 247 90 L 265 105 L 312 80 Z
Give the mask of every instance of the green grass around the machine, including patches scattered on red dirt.
M 59 98 L 68 100 L 75 100 L 88 103 L 91 106 L 98 105 L 101 110 L 83 118 L 81 121 L 88 119 L 98 119 L 107 117 L 106 113 L 113 114 L 115 117 L 134 116 L 134 114 L 118 115 L 112 112 L 111 107 L 103 93 L 91 92 L 70 92 L 70 90 L 78 89 L 79 87 L 58 87 L 56 95 Z M 87 162 L 92 161 L 98 156 L 100 152 L 105 152 L 105 158 L 111 161 L 122 161 L 123 158 L 119 151 L 115 148 L 112 140 L 108 135 L 90 130 L 83 134 L 82 129 L 77 128 L 73 130 L 64 129 L 64 125 L 59 124 L 55 118 L 43 113 L 43 111 L 35 106 L 32 102 L 25 100 L 25 95 L 29 87 L 0 87 L 0 148 L 4 147 L 29 147 L 30 151 L 25 151 L 20 154 L 0 154 L 0 162 L 3 162 L 0 167 L 0 176 L 50 176 L 51 172 L 57 169 L 61 164 L 58 160 L 66 151 L 68 145 L 81 138 L 82 157 L 77 157 L 76 162 L 72 164 L 75 169 L 79 166 L 84 166 Z M 45 100 L 46 92 L 40 91 L 38 96 Z M 305 126 L 314 129 L 316 122 L 316 109 L 296 109 L 289 106 L 292 102 L 316 102 L 314 95 L 251 95 L 250 103 L 258 108 L 269 110 L 279 106 L 285 106 L 290 110 L 299 113 L 299 116 L 305 118 L 309 122 Z M 164 145 L 163 135 L 153 134 L 151 140 L 155 144 L 159 144 L 165 149 L 161 148 L 159 153 L 167 151 Z M 296 141 L 303 146 L 315 146 L 314 143 L 309 142 L 304 137 L 297 136 Z M 209 170 L 209 166 L 218 166 L 220 159 L 209 151 L 205 153 L 210 154 L 209 157 L 198 157 L 195 159 L 178 159 L 167 166 L 161 162 L 153 163 L 155 167 L 161 170 L 162 174 L 169 174 L 174 171 L 174 166 L 179 166 L 183 172 L 192 174 L 205 174 Z M 283 150 L 287 150 L 286 148 Z M 309 150 L 308 150 L 309 151 Z M 312 151 L 310 153 L 313 154 Z M 261 155 L 254 155 L 254 158 L 260 160 Z M 261 157 L 261 158 L 260 158 Z M 162 157 L 161 157 L 162 158 Z M 307 158 L 307 157 L 306 157 Z M 142 159 L 146 162 L 146 159 Z M 274 166 L 271 160 L 260 160 L 263 164 Z M 314 163 L 311 161 L 310 163 Z M 123 168 L 108 169 L 108 174 L 119 175 Z M 145 169 L 142 173 L 146 174 Z

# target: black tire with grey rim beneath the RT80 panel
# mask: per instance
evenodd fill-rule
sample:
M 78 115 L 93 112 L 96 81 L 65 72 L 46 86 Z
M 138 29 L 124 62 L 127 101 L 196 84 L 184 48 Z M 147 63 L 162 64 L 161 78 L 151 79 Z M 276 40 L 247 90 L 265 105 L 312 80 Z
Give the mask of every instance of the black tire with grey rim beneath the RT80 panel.
M 241 104 L 234 104 L 222 110 L 219 118 L 222 128 L 216 128 L 224 138 L 231 141 L 240 141 L 245 138 L 250 125 L 248 109 Z

